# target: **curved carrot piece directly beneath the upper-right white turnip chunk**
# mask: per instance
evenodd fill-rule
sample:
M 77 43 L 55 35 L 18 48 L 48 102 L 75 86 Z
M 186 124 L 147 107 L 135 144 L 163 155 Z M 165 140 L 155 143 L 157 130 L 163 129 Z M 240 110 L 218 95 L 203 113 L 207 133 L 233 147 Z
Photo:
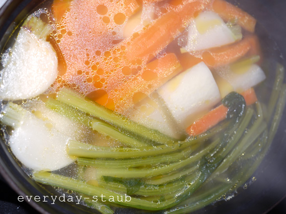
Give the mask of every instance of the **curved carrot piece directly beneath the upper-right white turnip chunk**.
M 252 43 L 250 37 L 246 37 L 235 44 L 204 51 L 202 60 L 211 67 L 222 66 L 240 59 L 246 55 L 251 48 Z

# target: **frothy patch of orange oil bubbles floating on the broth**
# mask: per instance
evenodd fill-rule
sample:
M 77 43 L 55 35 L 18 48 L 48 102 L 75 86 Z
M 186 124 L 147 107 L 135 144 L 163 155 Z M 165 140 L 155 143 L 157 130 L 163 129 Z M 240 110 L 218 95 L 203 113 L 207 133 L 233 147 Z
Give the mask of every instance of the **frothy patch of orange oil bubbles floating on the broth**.
M 96 93 L 97 90 L 105 91 L 108 98 L 101 99 L 100 104 L 120 113 L 125 112 L 128 106 L 121 109 L 121 104 L 114 105 L 114 98 L 118 95 L 114 89 L 122 82 L 146 72 L 145 64 L 150 57 L 129 61 L 125 56 L 126 47 L 138 34 L 134 33 L 122 41 L 126 20 L 137 8 L 134 3 L 124 4 L 124 1 L 72 2 L 53 32 L 64 56 L 67 71 L 64 75 L 58 76 L 53 86 L 55 91 L 64 86 L 73 87 L 83 95 Z M 164 4 L 164 13 L 172 7 Z M 155 11 L 154 7 L 143 8 L 142 19 L 148 18 L 149 23 L 163 14 L 158 7 L 155 7 Z M 138 28 L 145 29 L 143 25 Z M 102 100 L 106 102 L 103 103 Z

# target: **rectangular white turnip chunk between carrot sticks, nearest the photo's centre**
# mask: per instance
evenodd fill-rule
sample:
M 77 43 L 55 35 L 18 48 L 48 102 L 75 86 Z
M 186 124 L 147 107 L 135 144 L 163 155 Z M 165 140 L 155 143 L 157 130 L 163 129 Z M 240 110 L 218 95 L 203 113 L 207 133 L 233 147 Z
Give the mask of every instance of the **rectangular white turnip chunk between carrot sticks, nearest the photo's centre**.
M 183 129 L 221 100 L 217 83 L 203 62 L 169 80 L 158 93 Z

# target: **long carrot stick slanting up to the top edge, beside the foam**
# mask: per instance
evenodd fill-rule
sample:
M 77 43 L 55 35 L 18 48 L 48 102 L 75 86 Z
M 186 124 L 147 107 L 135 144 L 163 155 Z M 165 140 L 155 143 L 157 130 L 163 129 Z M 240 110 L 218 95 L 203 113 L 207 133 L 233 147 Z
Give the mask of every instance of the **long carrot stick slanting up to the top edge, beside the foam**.
M 176 11 L 169 11 L 155 20 L 126 47 L 126 57 L 138 58 L 157 55 L 184 30 L 208 0 L 190 0 Z

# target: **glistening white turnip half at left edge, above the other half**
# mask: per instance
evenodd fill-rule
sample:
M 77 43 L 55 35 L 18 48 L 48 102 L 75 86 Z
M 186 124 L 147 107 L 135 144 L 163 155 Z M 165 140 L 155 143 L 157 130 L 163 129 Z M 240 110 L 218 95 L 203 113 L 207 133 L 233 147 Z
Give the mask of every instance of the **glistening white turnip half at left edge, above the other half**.
M 57 57 L 50 43 L 22 27 L 1 72 L 0 98 L 27 99 L 45 90 L 57 76 Z

